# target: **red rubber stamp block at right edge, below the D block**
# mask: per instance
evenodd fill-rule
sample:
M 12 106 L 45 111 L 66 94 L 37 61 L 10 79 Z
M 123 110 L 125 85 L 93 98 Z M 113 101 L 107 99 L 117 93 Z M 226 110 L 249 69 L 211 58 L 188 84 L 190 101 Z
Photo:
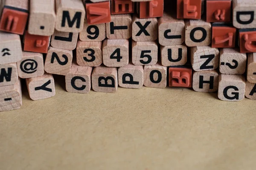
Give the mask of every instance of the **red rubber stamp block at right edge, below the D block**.
M 239 30 L 240 53 L 256 52 L 256 28 Z

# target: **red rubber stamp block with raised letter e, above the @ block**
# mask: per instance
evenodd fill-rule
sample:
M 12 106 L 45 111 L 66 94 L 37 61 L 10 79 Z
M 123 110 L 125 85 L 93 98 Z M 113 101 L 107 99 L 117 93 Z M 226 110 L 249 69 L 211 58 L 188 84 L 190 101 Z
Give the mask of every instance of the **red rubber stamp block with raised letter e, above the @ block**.
M 24 35 L 24 51 L 47 53 L 49 36 L 32 35 L 27 31 Z

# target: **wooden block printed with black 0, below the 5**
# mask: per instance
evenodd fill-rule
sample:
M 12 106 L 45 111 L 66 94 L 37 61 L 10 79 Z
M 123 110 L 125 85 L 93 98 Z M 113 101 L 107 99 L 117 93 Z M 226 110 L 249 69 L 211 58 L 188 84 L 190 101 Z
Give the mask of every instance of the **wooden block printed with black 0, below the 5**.
M 166 88 L 167 67 L 160 65 L 144 66 L 144 85 L 148 88 Z

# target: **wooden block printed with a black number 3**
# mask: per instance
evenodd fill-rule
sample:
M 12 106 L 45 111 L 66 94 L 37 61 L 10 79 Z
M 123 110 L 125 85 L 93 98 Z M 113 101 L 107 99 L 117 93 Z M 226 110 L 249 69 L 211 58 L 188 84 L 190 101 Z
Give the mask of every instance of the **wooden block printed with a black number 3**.
M 80 66 L 97 67 L 102 64 L 102 42 L 77 42 L 76 62 Z

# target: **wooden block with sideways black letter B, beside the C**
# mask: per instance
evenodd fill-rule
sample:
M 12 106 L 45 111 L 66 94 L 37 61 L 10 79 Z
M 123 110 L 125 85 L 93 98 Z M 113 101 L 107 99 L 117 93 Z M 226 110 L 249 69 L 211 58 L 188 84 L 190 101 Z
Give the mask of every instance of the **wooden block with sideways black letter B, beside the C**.
M 117 68 L 103 65 L 94 68 L 92 74 L 92 88 L 96 92 L 114 93 L 117 91 Z

